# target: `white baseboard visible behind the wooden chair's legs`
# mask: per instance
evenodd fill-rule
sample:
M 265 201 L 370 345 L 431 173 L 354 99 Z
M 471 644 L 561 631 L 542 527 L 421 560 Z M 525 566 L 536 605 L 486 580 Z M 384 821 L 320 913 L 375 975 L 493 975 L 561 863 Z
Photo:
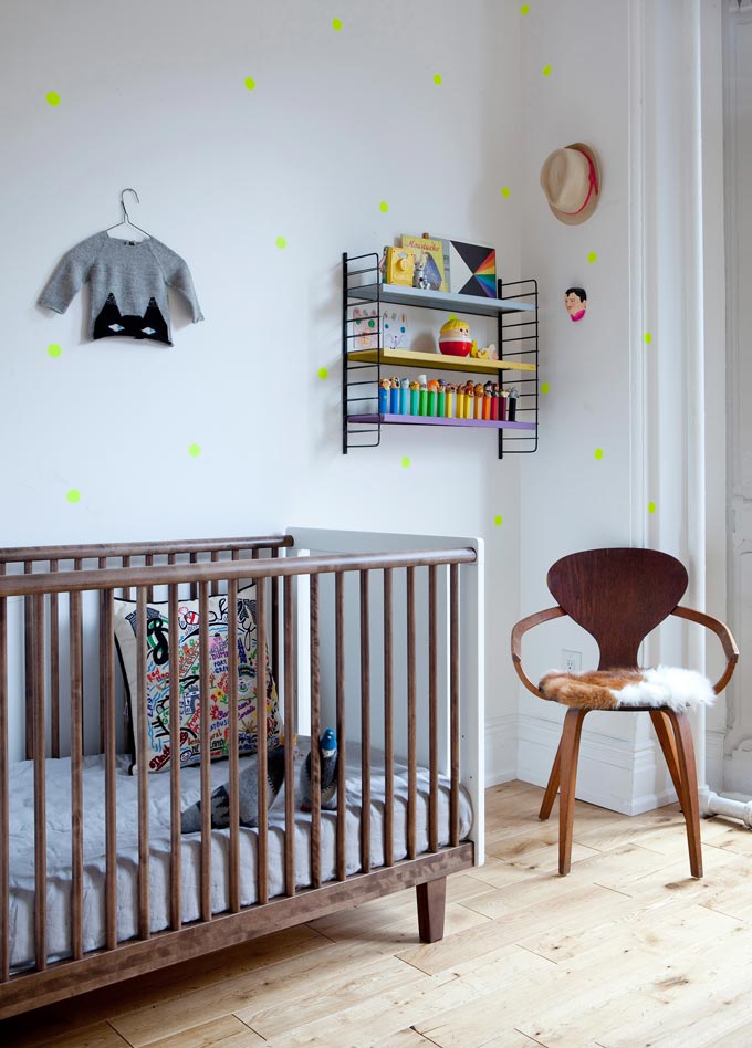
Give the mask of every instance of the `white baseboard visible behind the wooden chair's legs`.
M 561 726 L 543 717 L 523 714 L 518 736 L 518 778 L 545 786 L 556 755 Z M 656 741 L 615 738 L 588 731 L 586 726 L 579 745 L 576 796 L 578 800 L 623 815 L 640 815 L 676 800 Z

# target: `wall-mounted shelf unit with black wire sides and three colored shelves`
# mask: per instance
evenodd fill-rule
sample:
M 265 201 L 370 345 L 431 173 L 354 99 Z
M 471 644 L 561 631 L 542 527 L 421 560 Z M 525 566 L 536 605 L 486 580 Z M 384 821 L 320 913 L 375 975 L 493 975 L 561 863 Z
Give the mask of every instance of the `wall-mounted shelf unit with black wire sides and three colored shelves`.
M 510 452 L 533 452 L 537 449 L 537 281 L 498 281 L 497 298 L 448 294 L 382 284 L 379 256 L 376 252 L 342 256 L 342 450 L 375 448 L 382 440 L 384 426 L 455 426 L 464 429 L 495 429 L 499 433 L 499 458 Z M 355 329 L 357 306 L 375 304 L 373 327 L 366 333 L 374 348 L 354 349 L 363 328 Z M 440 353 L 412 349 L 389 349 L 384 346 L 384 305 L 416 306 L 440 310 L 458 315 L 497 318 L 499 360 L 451 357 Z M 377 413 L 378 384 L 397 369 L 416 371 L 462 371 L 493 376 L 502 385 L 514 386 L 519 396 L 514 421 L 466 418 L 441 418 L 420 415 Z M 429 377 L 430 374 L 429 374 Z

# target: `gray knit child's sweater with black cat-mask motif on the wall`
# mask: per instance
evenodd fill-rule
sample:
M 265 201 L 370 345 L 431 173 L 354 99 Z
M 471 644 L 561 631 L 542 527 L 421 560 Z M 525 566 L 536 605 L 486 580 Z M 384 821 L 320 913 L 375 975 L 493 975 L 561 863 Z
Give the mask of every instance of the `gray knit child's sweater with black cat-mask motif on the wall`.
M 60 260 L 39 304 L 64 313 L 86 281 L 92 338 L 129 335 L 171 346 L 168 285 L 182 293 L 195 324 L 203 319 L 188 266 L 154 237 L 116 240 L 102 232 L 82 240 Z

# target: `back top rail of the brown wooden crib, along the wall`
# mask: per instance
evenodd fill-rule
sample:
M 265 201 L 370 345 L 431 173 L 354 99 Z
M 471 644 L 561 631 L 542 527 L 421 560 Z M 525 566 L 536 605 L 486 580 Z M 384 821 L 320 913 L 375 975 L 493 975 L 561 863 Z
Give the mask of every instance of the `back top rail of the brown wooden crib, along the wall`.
M 254 538 L 178 538 L 160 542 L 90 543 L 62 546 L 9 546 L 0 548 L 0 565 L 55 560 L 109 559 L 112 557 L 180 556 L 191 553 L 234 553 L 243 549 L 279 549 L 292 546 L 292 535 Z

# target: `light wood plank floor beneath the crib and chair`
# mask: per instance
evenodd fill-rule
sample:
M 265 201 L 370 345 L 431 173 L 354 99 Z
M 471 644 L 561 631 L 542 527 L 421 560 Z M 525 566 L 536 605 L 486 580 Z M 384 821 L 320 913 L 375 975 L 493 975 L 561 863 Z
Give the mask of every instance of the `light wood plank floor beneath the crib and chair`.
M 752 834 L 676 805 L 577 804 L 556 874 L 542 790 L 488 792 L 488 861 L 451 878 L 447 934 L 415 892 L 0 1024 L 7 1048 L 749 1048 Z

